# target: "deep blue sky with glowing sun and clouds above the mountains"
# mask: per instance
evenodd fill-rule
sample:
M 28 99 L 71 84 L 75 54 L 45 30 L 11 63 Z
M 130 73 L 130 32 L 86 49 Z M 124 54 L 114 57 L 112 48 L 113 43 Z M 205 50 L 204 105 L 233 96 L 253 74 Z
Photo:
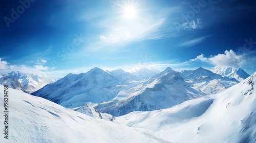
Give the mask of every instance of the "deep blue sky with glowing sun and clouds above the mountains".
M 1 1 L 0 74 L 236 66 L 256 71 L 256 2 Z

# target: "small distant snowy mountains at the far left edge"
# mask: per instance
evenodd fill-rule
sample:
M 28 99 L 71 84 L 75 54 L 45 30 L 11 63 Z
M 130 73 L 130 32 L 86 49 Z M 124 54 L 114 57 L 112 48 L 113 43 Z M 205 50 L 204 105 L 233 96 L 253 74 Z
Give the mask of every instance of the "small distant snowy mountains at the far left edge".
M 7 84 L 11 88 L 22 90 L 24 92 L 34 92 L 49 83 L 55 82 L 56 78 L 41 78 L 34 74 L 12 71 L 9 74 L 0 76 L 0 84 Z

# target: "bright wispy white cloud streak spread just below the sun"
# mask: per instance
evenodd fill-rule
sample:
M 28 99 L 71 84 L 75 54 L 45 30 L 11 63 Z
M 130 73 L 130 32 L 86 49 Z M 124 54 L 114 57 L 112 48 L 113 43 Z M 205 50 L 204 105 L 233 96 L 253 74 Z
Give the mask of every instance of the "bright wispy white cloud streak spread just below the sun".
M 115 21 L 115 20 L 113 20 Z M 131 21 L 131 23 L 124 24 L 123 22 L 117 22 L 108 28 L 107 24 L 105 29 L 107 32 L 103 32 L 98 35 L 98 40 L 92 43 L 93 47 L 91 51 L 101 50 L 104 46 L 112 44 L 128 43 L 133 41 L 140 41 L 146 39 L 154 39 L 155 35 L 151 35 L 157 32 L 157 29 L 163 24 L 164 18 L 160 19 L 138 19 L 137 21 Z

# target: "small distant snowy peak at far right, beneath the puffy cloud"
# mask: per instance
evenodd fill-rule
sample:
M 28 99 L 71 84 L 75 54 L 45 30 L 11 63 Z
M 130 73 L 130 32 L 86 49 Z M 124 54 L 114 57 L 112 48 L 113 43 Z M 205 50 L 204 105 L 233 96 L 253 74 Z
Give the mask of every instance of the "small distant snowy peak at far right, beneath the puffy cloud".
M 243 69 L 237 67 L 218 67 L 216 66 L 212 72 L 221 75 L 222 77 L 235 78 L 238 81 L 243 81 L 250 75 Z

